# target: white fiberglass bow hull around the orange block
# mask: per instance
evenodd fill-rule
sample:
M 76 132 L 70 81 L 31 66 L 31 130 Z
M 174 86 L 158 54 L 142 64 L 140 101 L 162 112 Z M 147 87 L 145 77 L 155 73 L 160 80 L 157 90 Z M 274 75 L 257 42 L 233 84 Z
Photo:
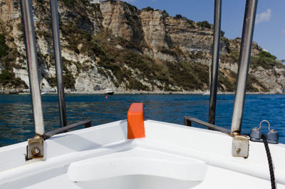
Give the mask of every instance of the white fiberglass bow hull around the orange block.
M 26 142 L 0 148 L 0 188 L 271 188 L 264 145 L 232 156 L 232 137 L 145 121 L 145 138 L 127 139 L 127 121 L 58 134 L 45 158 L 25 161 Z M 285 145 L 269 145 L 277 188 L 285 188 Z

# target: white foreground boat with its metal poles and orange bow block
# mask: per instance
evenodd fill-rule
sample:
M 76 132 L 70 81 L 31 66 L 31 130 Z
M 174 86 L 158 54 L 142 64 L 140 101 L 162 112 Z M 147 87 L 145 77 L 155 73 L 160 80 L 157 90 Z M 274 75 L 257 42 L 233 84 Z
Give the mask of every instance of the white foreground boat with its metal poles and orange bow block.
M 58 44 L 54 2 L 53 42 Z M 36 134 L 26 142 L 0 148 L 0 188 L 285 188 L 285 145 L 278 144 L 277 132 L 267 122 L 268 131 L 262 134 L 264 121 L 250 135 L 241 132 L 256 0 L 247 0 L 231 130 L 194 117 L 185 117 L 185 125 L 147 120 L 142 103 L 130 104 L 126 120 L 98 126 L 84 120 L 66 126 L 64 91 L 58 86 L 62 127 L 45 132 L 31 1 L 21 0 L 21 6 L 27 58 L 33 68 L 29 78 Z M 215 15 L 220 8 L 217 1 Z M 217 21 L 214 26 L 220 25 Z M 217 91 L 217 85 L 211 87 Z M 213 96 L 209 117 L 215 114 Z M 77 126 L 86 128 L 71 131 Z

